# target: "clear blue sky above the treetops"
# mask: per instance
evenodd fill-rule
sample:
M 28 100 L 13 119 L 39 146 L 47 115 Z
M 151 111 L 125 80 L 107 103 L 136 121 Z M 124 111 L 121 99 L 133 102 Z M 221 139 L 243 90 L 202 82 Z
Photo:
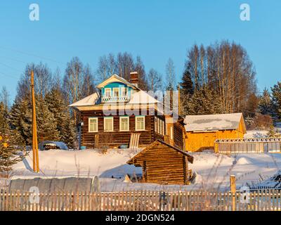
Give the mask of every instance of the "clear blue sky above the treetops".
M 39 4 L 39 21 L 30 21 L 32 3 Z M 250 21 L 240 20 L 243 3 Z M 162 74 L 171 57 L 178 82 L 188 48 L 221 39 L 247 49 L 260 91 L 281 80 L 280 0 L 1 0 L 0 25 L 0 88 L 12 100 L 27 63 L 64 72 L 78 56 L 96 70 L 99 56 L 128 51 Z

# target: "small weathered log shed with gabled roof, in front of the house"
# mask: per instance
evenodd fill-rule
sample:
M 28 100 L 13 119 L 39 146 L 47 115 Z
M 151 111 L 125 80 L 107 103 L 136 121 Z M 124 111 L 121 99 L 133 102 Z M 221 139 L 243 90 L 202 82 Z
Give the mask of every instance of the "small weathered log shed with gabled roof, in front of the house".
M 143 149 L 127 163 L 143 167 L 143 182 L 152 184 L 189 184 L 193 163 L 192 155 L 157 140 Z

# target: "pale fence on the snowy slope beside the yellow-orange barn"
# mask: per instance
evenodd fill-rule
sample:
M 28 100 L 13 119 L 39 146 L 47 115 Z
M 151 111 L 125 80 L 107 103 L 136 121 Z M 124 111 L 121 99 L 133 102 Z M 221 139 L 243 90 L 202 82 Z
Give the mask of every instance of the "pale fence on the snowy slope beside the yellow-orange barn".
M 216 153 L 281 153 L 281 139 L 217 139 Z

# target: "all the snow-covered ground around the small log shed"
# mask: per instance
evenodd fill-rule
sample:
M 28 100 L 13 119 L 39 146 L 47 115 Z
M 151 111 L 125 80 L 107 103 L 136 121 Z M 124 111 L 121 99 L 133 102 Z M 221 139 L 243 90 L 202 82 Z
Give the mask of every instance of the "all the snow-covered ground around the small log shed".
M 247 138 L 265 136 L 267 131 L 248 131 Z M 39 151 L 41 172 L 32 172 L 32 152 L 13 167 L 13 179 L 18 177 L 99 176 L 101 191 L 132 189 L 195 189 L 229 188 L 229 176 L 235 174 L 237 187 L 266 179 L 281 168 L 281 154 L 218 155 L 211 152 L 191 153 L 194 163 L 189 169 L 196 172 L 195 184 L 189 186 L 160 186 L 157 184 L 124 183 L 125 174 L 141 174 L 141 167 L 127 165 L 136 154 L 129 149 L 111 149 L 106 154 L 98 150 L 46 150 Z M 112 176 L 114 177 L 112 179 Z

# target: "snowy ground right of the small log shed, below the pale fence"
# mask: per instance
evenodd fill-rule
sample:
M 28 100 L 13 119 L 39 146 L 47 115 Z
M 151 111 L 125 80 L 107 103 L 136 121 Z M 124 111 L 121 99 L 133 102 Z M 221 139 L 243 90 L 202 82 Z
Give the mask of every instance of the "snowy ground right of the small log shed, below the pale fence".
M 194 164 L 189 168 L 200 174 L 200 181 L 196 181 L 193 188 L 202 186 L 229 188 L 229 176 L 233 174 L 237 179 L 237 188 L 256 183 L 261 176 L 271 176 L 281 165 L 281 155 L 276 154 L 237 154 L 216 155 L 212 153 L 193 153 Z M 191 188 L 191 187 L 190 187 Z

